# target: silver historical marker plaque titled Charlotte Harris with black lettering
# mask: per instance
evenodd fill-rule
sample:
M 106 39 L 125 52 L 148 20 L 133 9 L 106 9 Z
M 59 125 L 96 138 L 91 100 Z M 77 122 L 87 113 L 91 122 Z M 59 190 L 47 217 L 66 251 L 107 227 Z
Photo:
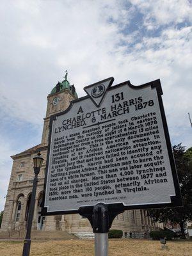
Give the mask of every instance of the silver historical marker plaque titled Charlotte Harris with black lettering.
M 182 204 L 160 81 L 112 83 L 86 86 L 88 96 L 51 117 L 42 214 Z

